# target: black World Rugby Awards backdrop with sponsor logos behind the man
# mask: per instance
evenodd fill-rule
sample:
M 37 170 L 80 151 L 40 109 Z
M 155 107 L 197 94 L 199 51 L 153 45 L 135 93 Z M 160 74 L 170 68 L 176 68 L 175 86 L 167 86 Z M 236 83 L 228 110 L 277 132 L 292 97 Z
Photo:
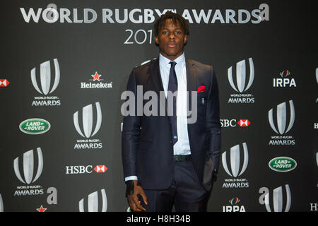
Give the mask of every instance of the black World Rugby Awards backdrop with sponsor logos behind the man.
M 317 13 L 310 1 L 1 4 L 0 211 L 127 211 L 121 94 L 187 19 L 216 70 L 222 151 L 208 211 L 318 210 Z

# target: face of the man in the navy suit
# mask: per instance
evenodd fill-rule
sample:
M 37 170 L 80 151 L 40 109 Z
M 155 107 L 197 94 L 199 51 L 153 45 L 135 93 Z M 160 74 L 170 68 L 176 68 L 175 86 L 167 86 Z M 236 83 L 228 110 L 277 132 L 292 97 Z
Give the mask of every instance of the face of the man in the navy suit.
M 155 44 L 158 44 L 160 53 L 171 61 L 183 53 L 184 44 L 186 43 L 187 35 L 184 34 L 179 21 L 174 24 L 171 19 L 165 20 L 163 26 L 159 28 L 158 35 L 155 37 Z

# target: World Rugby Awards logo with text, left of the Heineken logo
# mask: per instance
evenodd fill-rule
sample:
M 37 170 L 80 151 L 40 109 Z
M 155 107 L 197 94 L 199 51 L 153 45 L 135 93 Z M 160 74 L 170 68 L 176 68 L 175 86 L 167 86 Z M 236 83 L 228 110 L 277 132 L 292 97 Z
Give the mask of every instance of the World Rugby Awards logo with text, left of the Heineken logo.
M 31 81 L 35 90 L 38 93 L 44 96 L 34 97 L 34 100 L 31 106 L 59 106 L 61 105 L 61 100 L 57 96 L 50 96 L 54 90 L 56 90 L 57 85 L 59 85 L 60 79 L 60 71 L 59 71 L 59 62 L 57 59 L 53 59 L 54 63 L 54 71 L 55 71 L 55 78 L 54 83 L 51 86 L 51 61 L 45 61 L 40 64 L 40 87 L 37 82 L 36 76 L 36 68 L 31 70 Z

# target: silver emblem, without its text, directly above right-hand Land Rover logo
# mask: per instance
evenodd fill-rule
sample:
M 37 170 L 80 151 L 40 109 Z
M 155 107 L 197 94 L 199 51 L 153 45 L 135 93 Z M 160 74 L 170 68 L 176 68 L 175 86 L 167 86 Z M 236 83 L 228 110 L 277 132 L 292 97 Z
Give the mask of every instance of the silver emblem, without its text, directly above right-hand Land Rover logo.
M 273 117 L 273 108 L 269 110 L 269 124 L 271 125 L 271 129 L 275 131 L 278 134 L 283 135 L 284 133 L 287 133 L 290 131 L 290 129 L 293 127 L 294 121 L 295 121 L 295 109 L 293 100 L 289 101 L 289 109 L 290 109 L 290 119 L 289 124 L 286 129 L 286 121 L 287 121 L 287 109 L 286 109 L 286 102 L 283 102 L 279 105 L 277 105 L 276 108 L 276 119 L 277 119 L 277 129 L 274 123 L 274 117 Z

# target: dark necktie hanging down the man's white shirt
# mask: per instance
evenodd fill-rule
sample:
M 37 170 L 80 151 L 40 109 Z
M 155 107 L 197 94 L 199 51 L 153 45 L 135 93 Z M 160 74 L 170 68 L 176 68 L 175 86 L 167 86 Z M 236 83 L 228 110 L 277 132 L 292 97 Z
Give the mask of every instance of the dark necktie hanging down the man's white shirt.
M 175 61 L 171 61 L 170 73 L 169 73 L 169 83 L 168 83 L 168 91 L 175 93 L 178 90 L 178 81 L 177 75 L 175 73 L 175 65 L 177 64 Z M 172 130 L 172 143 L 175 145 L 178 141 L 177 136 L 177 97 L 173 97 L 173 115 L 169 116 L 171 122 L 171 130 Z

